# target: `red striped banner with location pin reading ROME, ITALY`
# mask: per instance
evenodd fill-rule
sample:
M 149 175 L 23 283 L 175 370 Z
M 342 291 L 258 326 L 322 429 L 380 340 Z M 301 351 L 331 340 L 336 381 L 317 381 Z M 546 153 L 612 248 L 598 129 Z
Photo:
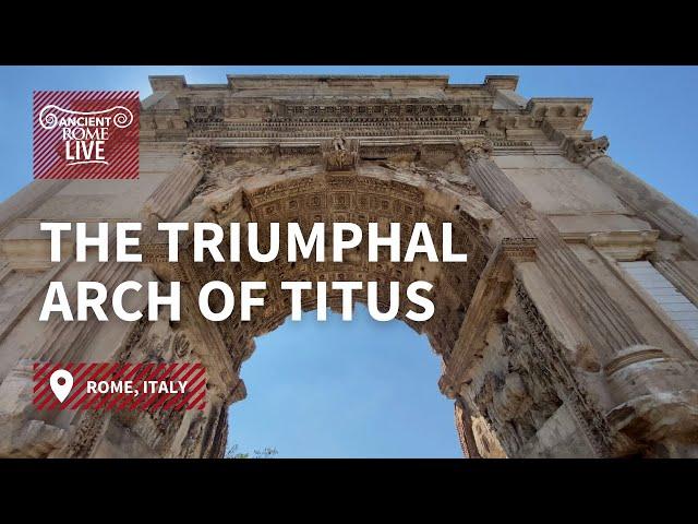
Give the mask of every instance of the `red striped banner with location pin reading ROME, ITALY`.
M 51 374 L 61 369 L 73 377 L 73 386 L 63 402 L 57 398 L 50 385 Z M 88 392 L 87 383 L 91 381 L 121 384 L 122 388 L 120 391 L 109 388 L 101 393 Z M 137 395 L 125 391 L 123 385 L 127 381 L 132 384 L 133 392 L 139 392 Z M 163 384 L 168 385 L 167 391 L 160 390 Z M 171 384 L 174 384 L 173 389 L 169 388 Z M 49 412 L 204 409 L 206 384 L 206 370 L 202 364 L 35 362 L 34 406 Z

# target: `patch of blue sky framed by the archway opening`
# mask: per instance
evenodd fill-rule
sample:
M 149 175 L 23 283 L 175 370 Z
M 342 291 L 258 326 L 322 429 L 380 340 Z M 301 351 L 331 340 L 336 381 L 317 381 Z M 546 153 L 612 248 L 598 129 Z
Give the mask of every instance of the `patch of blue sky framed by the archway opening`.
M 436 385 L 441 358 L 425 335 L 354 307 L 287 319 L 255 340 L 228 412 L 228 456 L 461 457 L 453 401 Z

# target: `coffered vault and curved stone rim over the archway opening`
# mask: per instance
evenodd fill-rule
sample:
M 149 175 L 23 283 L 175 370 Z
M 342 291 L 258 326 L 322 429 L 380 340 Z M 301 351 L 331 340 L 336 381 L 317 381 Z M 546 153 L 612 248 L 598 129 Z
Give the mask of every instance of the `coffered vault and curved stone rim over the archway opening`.
M 245 168 L 251 166 L 243 163 Z M 217 222 L 224 231 L 230 222 L 256 222 L 261 233 L 268 230 L 269 222 L 281 223 L 284 236 L 285 224 L 298 222 L 301 227 L 323 222 L 330 227 L 335 222 L 352 222 L 362 226 L 364 235 L 369 222 L 402 224 L 402 249 L 408 233 L 416 222 L 430 224 L 437 251 L 441 252 L 441 224 L 454 224 L 454 250 L 467 252 L 467 263 L 429 262 L 420 255 L 412 263 L 390 262 L 387 250 L 381 251 L 378 262 L 369 263 L 365 242 L 356 255 L 347 257 L 344 263 L 317 263 L 314 261 L 287 262 L 285 253 L 278 261 L 261 264 L 249 258 L 241 249 L 241 262 L 217 263 L 207 258 L 204 262 L 194 263 L 191 257 L 191 236 L 180 239 L 178 263 L 167 260 L 165 238 L 153 234 L 144 247 L 146 261 L 161 281 L 182 281 L 182 315 L 178 329 L 188 333 L 210 330 L 220 341 L 219 347 L 225 354 L 210 359 L 208 366 L 225 366 L 227 373 L 219 373 L 217 388 L 227 390 L 225 405 L 245 396 L 244 384 L 239 378 L 244 360 L 254 350 L 254 338 L 279 326 L 290 315 L 288 291 L 281 293 L 280 281 L 370 281 L 378 282 L 378 306 L 387 308 L 387 286 L 381 283 L 398 281 L 404 289 L 416 279 L 425 279 L 434 285 L 430 296 L 435 306 L 435 314 L 424 323 L 416 323 L 405 317 L 407 305 L 400 302 L 398 319 L 405 321 L 418 333 L 425 333 L 433 350 L 442 358 L 442 362 L 450 356 L 459 336 L 466 312 L 476 290 L 482 272 L 490 260 L 493 249 L 488 238 L 488 230 L 493 218 L 497 216 L 474 190 L 464 172 L 455 172 L 446 177 L 443 171 L 417 167 L 413 163 L 381 162 L 368 166 L 358 166 L 350 170 L 332 170 L 326 165 L 308 166 L 284 170 L 252 168 L 252 174 L 240 176 L 241 165 L 225 162 L 212 166 L 207 175 L 193 191 L 194 196 L 184 209 L 170 222 Z M 250 172 L 250 171 L 243 171 Z M 153 227 L 153 225 L 152 225 Z M 190 227 L 190 233 L 191 233 Z M 242 228 L 244 231 L 244 228 Z M 221 251 L 226 253 L 228 237 Z M 326 235 L 326 242 L 329 235 Z M 245 246 L 245 239 L 242 239 Z M 285 241 L 281 241 L 285 246 Z M 441 253 L 440 253 L 441 254 Z M 208 255 L 209 257 L 209 255 Z M 441 258 L 441 257 L 440 257 Z M 227 282 L 238 295 L 237 283 L 241 281 L 266 281 L 267 291 L 265 307 L 260 308 L 252 320 L 242 322 L 239 308 L 230 319 L 224 322 L 203 320 L 193 301 L 201 286 L 213 279 Z M 434 299 L 434 297 L 437 297 Z M 354 293 L 354 301 L 366 301 L 365 286 Z M 212 295 L 212 307 L 216 309 L 216 298 Z M 339 307 L 340 296 L 328 289 L 327 306 Z M 316 307 L 313 293 L 303 294 L 303 310 Z M 192 320 L 195 319 L 195 320 Z M 200 337 L 201 340 L 201 337 Z M 194 349 L 196 350 L 196 349 Z M 201 348 L 202 353 L 212 347 Z M 205 357 L 205 355 L 202 355 Z M 214 362 L 215 360 L 215 362 Z M 214 373 L 216 374 L 216 373 Z M 228 380 L 224 379 L 228 377 Z M 232 379 L 232 382 L 230 381 Z M 220 409 L 224 417 L 226 409 Z

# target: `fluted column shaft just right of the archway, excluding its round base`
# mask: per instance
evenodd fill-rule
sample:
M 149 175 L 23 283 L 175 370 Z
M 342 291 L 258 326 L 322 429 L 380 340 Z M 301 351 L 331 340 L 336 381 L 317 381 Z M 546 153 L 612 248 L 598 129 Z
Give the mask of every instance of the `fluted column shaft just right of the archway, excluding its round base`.
M 464 142 L 468 172 L 483 198 L 519 237 L 538 239 L 537 254 L 551 287 L 577 317 L 601 364 L 624 348 L 645 345 L 630 318 L 565 243 L 553 223 L 531 207 L 524 193 L 490 157 L 486 141 Z

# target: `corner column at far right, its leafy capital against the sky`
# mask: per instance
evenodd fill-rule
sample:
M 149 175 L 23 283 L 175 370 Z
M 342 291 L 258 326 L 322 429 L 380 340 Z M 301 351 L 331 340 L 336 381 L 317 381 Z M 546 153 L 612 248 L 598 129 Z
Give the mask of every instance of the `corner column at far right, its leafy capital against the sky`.
M 581 164 L 609 184 L 641 218 L 666 236 L 681 239 L 698 257 L 698 218 L 606 155 L 609 140 L 568 140 L 563 144 L 567 158 Z

